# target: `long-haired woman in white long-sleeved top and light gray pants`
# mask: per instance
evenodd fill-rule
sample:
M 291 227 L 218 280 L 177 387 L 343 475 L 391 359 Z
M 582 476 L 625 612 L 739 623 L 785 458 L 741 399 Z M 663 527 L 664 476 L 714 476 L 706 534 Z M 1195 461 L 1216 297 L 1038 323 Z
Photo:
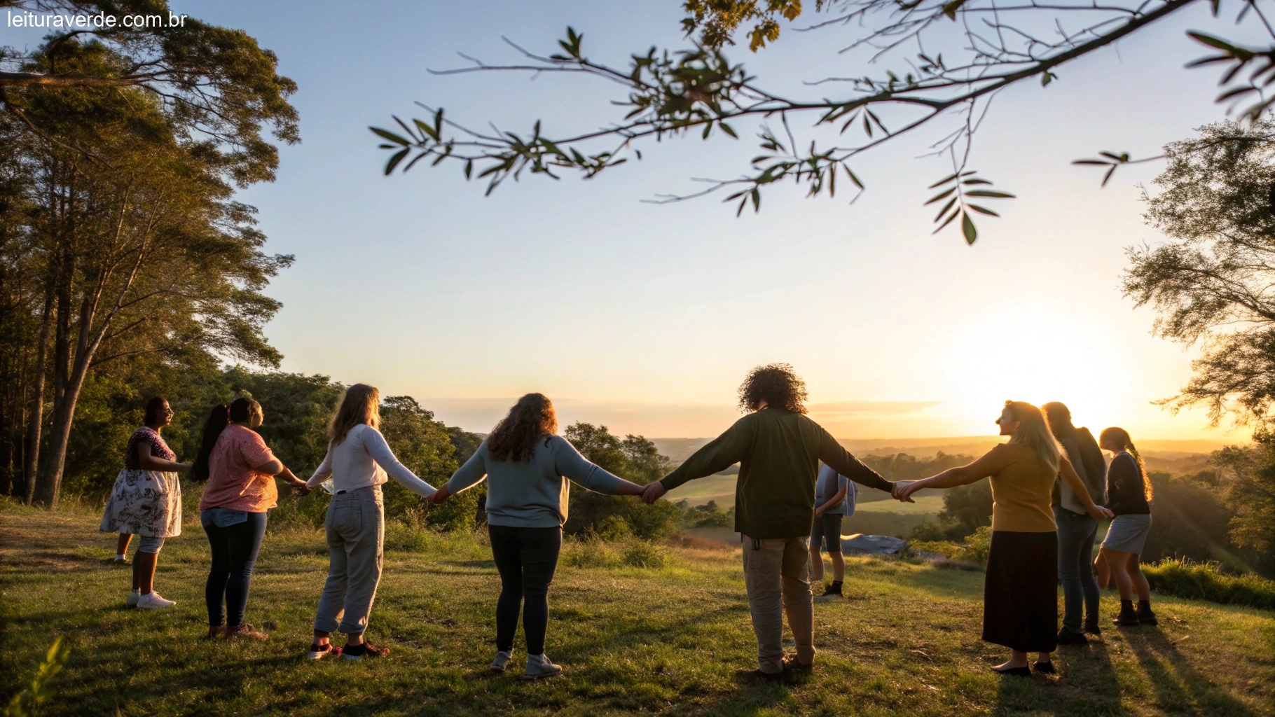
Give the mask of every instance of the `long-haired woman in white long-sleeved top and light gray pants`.
M 372 386 L 354 383 L 337 406 L 328 428 L 328 455 L 306 486 L 314 488 L 332 478 L 328 504 L 328 582 L 315 615 L 315 642 L 311 660 L 325 655 L 344 655 L 358 660 L 380 657 L 388 648 L 363 639 L 367 614 L 381 579 L 381 545 L 385 539 L 385 507 L 381 484 L 393 478 L 408 490 L 426 498 L 435 489 L 417 478 L 394 457 L 380 424 L 381 395 Z M 329 635 L 346 633 L 344 648 L 333 648 Z

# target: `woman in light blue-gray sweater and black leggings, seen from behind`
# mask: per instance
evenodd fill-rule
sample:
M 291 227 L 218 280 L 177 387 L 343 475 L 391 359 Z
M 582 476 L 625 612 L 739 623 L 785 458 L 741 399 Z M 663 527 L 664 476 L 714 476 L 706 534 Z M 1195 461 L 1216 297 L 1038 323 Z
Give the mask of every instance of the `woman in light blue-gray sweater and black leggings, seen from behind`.
M 544 656 L 544 632 L 550 619 L 550 582 L 562 549 L 567 480 L 611 495 L 643 492 L 641 485 L 589 462 L 556 432 L 553 404 L 543 394 L 523 396 L 473 457 L 431 498 L 440 504 L 487 478 L 487 530 L 501 583 L 496 602 L 497 652 L 488 670 L 504 672 L 509 665 L 521 606 L 527 635 L 523 678 L 528 680 L 562 672 Z

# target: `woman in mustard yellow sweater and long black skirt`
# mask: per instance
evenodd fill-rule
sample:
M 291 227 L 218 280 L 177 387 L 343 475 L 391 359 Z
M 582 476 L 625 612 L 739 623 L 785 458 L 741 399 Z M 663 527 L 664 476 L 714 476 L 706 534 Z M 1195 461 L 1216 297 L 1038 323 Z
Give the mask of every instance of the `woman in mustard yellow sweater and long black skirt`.
M 1061 474 L 1095 518 L 1111 512 L 1094 504 L 1085 484 L 1058 448 L 1044 414 L 1024 401 L 1005 401 L 996 419 L 1010 441 L 968 466 L 913 481 L 896 483 L 895 497 L 908 499 L 922 488 L 955 488 L 992 480 L 992 548 L 983 587 L 983 639 L 1009 647 L 1010 660 L 992 670 L 1030 676 L 1028 653 L 1037 652 L 1038 672 L 1054 672 L 1049 653 L 1058 647 L 1058 534 L 1051 498 Z

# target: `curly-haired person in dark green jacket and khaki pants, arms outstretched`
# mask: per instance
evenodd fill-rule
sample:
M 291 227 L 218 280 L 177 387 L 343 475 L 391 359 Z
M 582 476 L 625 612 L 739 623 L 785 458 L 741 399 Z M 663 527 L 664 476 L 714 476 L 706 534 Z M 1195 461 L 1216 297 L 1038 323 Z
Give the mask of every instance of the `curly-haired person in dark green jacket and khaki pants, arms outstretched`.
M 783 679 L 810 670 L 815 660 L 806 540 L 815 520 L 819 462 L 856 483 L 887 493 L 894 488 L 807 418 L 805 401 L 806 385 L 790 366 L 752 369 L 740 387 L 740 408 L 751 413 L 643 493 L 653 503 L 687 480 L 741 464 L 734 530 L 743 535 L 745 586 L 757 635 L 759 669 L 748 672 L 754 678 Z M 784 658 L 784 613 L 796 660 Z

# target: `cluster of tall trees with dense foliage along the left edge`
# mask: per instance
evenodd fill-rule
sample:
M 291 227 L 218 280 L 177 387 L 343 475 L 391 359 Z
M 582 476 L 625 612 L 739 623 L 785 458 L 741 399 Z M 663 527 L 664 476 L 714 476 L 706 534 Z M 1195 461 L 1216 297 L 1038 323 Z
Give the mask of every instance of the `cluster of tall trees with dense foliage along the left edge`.
M 164 0 L 3 5 L 168 14 Z M 273 141 L 298 140 L 296 85 L 275 65 L 246 33 L 196 19 L 0 47 L 0 492 L 55 506 L 73 451 L 102 470 L 73 430 L 82 399 L 224 359 L 278 366 L 264 289 L 292 257 L 263 251 L 235 197 L 274 178 Z M 121 430 L 84 418 L 89 436 Z

